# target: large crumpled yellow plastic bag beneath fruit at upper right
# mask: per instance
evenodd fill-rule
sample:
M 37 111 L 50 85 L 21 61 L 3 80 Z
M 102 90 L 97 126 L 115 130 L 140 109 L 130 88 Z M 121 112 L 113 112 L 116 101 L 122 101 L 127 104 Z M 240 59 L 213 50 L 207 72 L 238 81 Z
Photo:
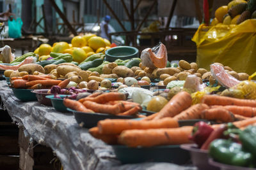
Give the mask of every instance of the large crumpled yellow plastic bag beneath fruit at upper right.
M 199 67 L 209 70 L 213 62 L 220 62 L 237 73 L 252 74 L 256 70 L 256 19 L 239 25 L 202 24 L 192 41 L 197 46 Z

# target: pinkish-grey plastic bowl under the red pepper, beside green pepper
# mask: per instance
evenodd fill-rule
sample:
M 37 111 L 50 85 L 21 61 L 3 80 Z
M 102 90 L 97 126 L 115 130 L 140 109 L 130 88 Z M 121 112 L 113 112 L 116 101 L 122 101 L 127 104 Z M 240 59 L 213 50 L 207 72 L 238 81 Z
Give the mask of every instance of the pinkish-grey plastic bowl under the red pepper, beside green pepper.
M 180 145 L 180 148 L 187 150 L 190 152 L 191 160 L 194 166 L 198 167 L 200 170 L 219 170 L 220 168 L 211 166 L 209 164 L 208 159 L 208 151 L 207 150 L 200 150 L 196 148 L 195 144 L 183 144 Z

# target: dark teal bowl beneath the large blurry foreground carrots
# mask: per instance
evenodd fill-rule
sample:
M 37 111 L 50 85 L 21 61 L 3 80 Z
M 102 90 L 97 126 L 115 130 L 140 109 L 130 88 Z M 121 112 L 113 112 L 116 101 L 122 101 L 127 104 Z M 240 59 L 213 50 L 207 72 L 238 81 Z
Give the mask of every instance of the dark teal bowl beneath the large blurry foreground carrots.
M 182 150 L 180 145 L 164 145 L 149 148 L 129 148 L 124 145 L 112 145 L 116 157 L 123 164 L 140 162 L 170 162 L 173 164 L 187 164 L 189 152 Z

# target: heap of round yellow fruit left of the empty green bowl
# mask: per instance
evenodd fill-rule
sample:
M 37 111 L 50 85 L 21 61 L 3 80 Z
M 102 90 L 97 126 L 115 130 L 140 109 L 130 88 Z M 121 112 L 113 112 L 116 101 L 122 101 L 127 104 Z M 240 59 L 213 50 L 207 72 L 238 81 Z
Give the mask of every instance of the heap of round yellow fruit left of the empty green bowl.
M 34 53 L 40 57 L 38 60 L 46 60 L 51 52 L 56 53 L 70 53 L 73 60 L 82 62 L 84 59 L 95 53 L 105 53 L 111 43 L 108 39 L 101 38 L 95 34 L 85 34 L 84 36 L 75 36 L 72 38 L 70 44 L 67 42 L 57 42 L 52 46 L 49 44 L 42 44 L 36 48 Z

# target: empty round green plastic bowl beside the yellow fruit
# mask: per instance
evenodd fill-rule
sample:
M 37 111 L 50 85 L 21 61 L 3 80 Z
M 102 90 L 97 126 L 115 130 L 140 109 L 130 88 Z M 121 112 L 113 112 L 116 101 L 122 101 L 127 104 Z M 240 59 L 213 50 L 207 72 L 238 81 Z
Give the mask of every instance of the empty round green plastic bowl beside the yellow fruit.
M 105 52 L 106 60 L 114 62 L 116 59 L 127 60 L 139 57 L 139 50 L 132 46 L 116 46 Z

